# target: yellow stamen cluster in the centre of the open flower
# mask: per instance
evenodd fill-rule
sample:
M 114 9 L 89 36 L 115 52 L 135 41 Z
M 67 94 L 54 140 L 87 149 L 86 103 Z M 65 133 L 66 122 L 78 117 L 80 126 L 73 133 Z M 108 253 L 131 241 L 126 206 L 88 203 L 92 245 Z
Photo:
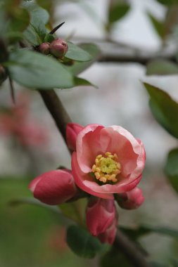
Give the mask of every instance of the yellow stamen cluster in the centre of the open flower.
M 117 162 L 117 155 L 106 152 L 104 155 L 97 155 L 92 172 L 98 181 L 103 183 L 117 182 L 117 174 L 120 174 L 121 165 Z

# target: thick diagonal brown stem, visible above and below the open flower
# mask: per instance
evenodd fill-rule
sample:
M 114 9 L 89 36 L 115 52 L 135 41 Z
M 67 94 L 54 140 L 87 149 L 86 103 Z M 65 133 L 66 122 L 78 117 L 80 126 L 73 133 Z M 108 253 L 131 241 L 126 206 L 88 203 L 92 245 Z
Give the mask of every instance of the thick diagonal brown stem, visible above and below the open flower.
M 65 111 L 61 100 L 59 100 L 55 91 L 39 91 L 42 96 L 46 108 L 48 108 L 51 116 L 53 117 L 58 130 L 62 133 L 62 136 L 66 142 L 65 138 L 65 126 L 68 122 L 71 122 L 68 113 Z M 134 245 L 134 243 L 128 239 L 128 237 L 122 233 L 120 230 L 117 230 L 117 236 L 115 238 L 115 247 L 118 250 L 122 251 L 125 256 L 127 256 L 128 261 L 134 267 L 149 267 L 146 257 L 144 254 L 141 254 L 140 250 Z

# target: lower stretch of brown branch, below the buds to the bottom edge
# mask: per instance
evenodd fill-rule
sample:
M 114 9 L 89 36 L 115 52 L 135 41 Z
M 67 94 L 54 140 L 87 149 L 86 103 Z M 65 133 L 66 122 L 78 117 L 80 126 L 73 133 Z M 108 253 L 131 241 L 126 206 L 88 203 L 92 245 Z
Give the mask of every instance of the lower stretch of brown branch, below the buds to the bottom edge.
M 117 235 L 115 238 L 114 246 L 125 254 L 127 260 L 134 267 L 150 267 L 148 261 L 141 250 L 138 249 L 134 243 L 129 240 L 127 235 L 117 230 Z

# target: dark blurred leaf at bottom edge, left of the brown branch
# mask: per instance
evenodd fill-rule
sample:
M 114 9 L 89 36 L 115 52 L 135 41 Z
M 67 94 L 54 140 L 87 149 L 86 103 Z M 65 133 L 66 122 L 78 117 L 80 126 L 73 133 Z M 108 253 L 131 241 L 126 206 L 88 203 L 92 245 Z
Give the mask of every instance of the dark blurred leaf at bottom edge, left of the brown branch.
M 100 261 L 101 267 L 112 267 L 112 266 L 121 266 L 121 267 L 130 267 L 129 261 L 127 258 L 115 247 L 112 247 L 109 252 L 107 252 Z

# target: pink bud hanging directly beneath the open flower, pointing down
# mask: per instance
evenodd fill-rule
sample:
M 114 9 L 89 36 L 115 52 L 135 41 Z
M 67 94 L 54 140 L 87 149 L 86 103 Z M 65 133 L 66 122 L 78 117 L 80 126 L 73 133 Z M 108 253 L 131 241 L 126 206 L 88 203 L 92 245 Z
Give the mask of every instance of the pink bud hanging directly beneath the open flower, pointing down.
M 115 219 L 114 200 L 90 197 L 87 206 L 87 228 L 91 235 L 99 235 L 113 223 Z

